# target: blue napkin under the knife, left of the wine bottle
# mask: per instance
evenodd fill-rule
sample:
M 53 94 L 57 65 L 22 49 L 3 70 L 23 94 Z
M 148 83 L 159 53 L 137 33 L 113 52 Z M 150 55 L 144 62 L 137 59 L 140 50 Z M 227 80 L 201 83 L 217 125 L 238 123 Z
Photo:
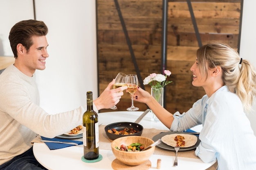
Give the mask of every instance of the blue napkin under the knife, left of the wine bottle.
M 50 141 L 60 141 L 60 142 L 74 142 L 76 144 L 83 144 L 83 141 L 77 141 L 77 140 L 69 140 L 69 139 L 59 139 L 59 138 L 47 138 L 41 136 L 43 140 L 50 140 Z M 61 144 L 61 143 L 52 143 L 52 142 L 45 142 L 45 144 L 49 147 L 50 150 L 54 149 L 61 149 L 61 148 L 66 148 L 69 146 L 74 146 L 72 144 Z

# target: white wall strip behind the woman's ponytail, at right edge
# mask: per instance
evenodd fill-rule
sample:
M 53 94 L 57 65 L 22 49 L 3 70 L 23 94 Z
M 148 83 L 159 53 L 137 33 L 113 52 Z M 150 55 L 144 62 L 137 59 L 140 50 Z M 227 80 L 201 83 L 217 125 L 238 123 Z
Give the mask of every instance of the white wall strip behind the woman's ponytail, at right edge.
M 254 18 L 256 16 L 255 7 L 255 0 L 244 0 L 240 57 L 252 62 L 256 68 L 256 20 Z M 251 122 L 252 128 L 254 129 L 254 135 L 256 135 L 256 100 L 254 100 L 253 108 L 254 111 L 248 114 L 248 118 Z

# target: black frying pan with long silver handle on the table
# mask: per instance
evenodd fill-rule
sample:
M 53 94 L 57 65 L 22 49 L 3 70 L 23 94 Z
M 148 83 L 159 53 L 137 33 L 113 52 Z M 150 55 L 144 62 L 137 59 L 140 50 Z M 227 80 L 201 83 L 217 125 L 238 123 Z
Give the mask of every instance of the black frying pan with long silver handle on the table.
M 124 136 L 141 136 L 142 131 L 143 131 L 143 126 L 141 126 L 138 123 L 149 111 L 150 111 L 150 109 L 147 109 L 146 111 L 144 111 L 144 113 L 142 113 L 141 116 L 139 116 L 139 118 L 134 123 L 132 123 L 132 122 L 117 122 L 117 123 L 108 124 L 107 126 L 105 126 L 106 135 L 111 140 L 115 140 L 119 137 L 124 137 Z M 116 129 L 117 131 L 122 131 L 125 128 L 129 128 L 129 129 L 133 128 L 139 132 L 133 133 L 133 134 L 128 134 L 128 135 L 116 135 L 114 133 L 108 133 L 109 129 Z

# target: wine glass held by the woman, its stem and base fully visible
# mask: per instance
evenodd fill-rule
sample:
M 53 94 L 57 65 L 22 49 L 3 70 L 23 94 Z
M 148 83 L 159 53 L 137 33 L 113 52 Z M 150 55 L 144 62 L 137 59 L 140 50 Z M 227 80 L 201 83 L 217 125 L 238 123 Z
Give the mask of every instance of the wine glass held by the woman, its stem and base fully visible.
M 127 91 L 133 95 L 137 91 L 138 87 L 138 77 L 136 74 L 128 74 L 128 82 L 127 82 Z M 133 97 L 132 97 L 132 106 L 127 108 L 128 111 L 136 111 L 139 110 L 138 107 L 133 105 Z

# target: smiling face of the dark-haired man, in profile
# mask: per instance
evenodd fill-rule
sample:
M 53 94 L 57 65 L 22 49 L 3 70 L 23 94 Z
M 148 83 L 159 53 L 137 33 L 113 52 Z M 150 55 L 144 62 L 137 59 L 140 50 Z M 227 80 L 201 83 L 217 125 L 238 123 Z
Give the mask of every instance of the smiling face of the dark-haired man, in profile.
M 45 70 L 45 59 L 49 57 L 47 52 L 47 39 L 45 36 L 33 36 L 33 45 L 29 50 L 25 50 L 23 65 L 25 66 L 26 73 L 31 75 L 37 70 Z

